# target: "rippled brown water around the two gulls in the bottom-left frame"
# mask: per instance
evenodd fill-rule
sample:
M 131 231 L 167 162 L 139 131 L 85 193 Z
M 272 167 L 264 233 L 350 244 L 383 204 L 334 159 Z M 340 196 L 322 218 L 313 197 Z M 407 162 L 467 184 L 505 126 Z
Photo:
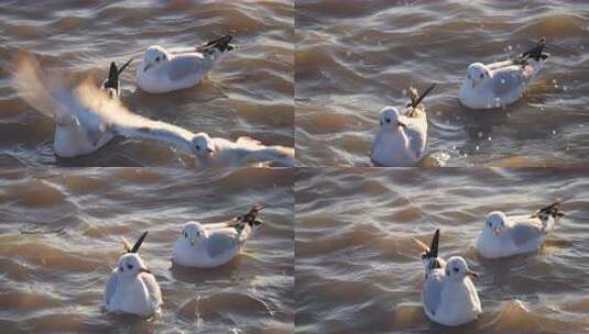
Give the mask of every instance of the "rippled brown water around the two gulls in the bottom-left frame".
M 2 333 L 293 331 L 292 170 L 0 169 L 0 183 Z M 220 222 L 252 202 L 270 205 L 265 225 L 238 258 L 210 270 L 172 266 L 185 222 Z M 119 237 L 145 230 L 141 254 L 162 288 L 163 315 L 103 313 Z

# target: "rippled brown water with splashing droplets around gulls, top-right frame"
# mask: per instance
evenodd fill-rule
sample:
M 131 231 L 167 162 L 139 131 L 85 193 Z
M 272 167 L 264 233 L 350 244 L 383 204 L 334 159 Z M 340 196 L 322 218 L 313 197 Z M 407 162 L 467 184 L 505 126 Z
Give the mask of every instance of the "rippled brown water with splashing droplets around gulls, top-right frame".
M 589 8 L 583 1 L 297 0 L 299 166 L 370 165 L 378 112 L 403 90 L 426 98 L 428 149 L 448 166 L 579 164 L 589 154 Z M 549 62 L 524 98 L 495 111 L 461 107 L 469 64 L 548 40 Z M 425 162 L 424 165 L 432 165 Z

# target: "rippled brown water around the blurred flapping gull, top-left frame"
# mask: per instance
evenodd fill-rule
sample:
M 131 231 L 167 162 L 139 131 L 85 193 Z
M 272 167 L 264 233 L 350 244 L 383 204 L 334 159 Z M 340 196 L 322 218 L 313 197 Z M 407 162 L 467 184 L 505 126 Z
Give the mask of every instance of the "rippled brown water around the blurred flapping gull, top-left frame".
M 137 59 L 122 75 L 131 110 L 192 131 L 294 146 L 292 1 L 4 1 L 0 3 L 0 162 L 9 166 L 194 166 L 166 145 L 114 140 L 96 154 L 56 160 L 53 121 L 22 102 L 9 82 L 20 49 L 80 81 L 102 80 L 110 62 L 145 47 L 198 45 L 234 35 L 237 49 L 194 88 L 152 96 L 135 88 Z

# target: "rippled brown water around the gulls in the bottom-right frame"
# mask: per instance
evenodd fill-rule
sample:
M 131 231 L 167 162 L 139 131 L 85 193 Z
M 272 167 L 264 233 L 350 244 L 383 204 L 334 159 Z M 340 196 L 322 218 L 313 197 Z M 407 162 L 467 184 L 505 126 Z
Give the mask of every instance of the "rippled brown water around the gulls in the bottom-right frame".
M 305 333 L 585 333 L 589 331 L 589 170 L 299 170 L 296 325 Z M 567 214 L 539 253 L 477 256 L 489 211 L 524 214 L 555 198 Z M 421 305 L 421 249 L 441 229 L 440 255 L 465 256 L 482 316 L 454 330 Z

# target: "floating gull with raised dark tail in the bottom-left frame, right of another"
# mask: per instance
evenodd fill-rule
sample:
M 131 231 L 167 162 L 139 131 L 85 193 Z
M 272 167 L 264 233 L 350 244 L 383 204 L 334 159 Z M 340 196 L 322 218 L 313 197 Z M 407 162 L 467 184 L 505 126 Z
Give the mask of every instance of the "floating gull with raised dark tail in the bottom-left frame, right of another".
M 172 249 L 172 260 L 176 265 L 196 268 L 214 268 L 232 260 L 250 237 L 258 234 L 262 221 L 258 220 L 263 205 L 236 219 L 216 223 L 200 224 L 187 222 Z

